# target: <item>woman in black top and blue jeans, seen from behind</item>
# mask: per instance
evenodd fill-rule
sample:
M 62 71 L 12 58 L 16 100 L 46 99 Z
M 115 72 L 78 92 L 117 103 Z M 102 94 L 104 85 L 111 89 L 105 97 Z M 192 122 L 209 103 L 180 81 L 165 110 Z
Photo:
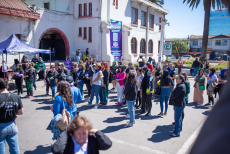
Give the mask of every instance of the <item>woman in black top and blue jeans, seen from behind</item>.
M 160 107 L 161 112 L 158 114 L 159 117 L 167 115 L 168 111 L 168 100 L 170 96 L 170 86 L 172 83 L 172 79 L 169 77 L 169 72 L 164 70 L 163 77 L 160 80 L 161 94 L 160 94 Z M 164 111 L 164 103 L 165 101 L 165 112 Z

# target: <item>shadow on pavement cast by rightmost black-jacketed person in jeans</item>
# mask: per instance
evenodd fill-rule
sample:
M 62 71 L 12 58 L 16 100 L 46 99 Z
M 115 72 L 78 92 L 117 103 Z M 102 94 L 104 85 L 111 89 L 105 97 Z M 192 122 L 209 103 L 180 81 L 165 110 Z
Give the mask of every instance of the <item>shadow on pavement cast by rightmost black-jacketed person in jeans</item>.
M 173 129 L 173 125 L 163 125 L 163 126 L 157 126 L 156 129 L 153 131 L 153 134 L 151 138 L 149 138 L 149 141 L 152 142 L 162 142 L 165 140 L 171 139 L 170 130 Z

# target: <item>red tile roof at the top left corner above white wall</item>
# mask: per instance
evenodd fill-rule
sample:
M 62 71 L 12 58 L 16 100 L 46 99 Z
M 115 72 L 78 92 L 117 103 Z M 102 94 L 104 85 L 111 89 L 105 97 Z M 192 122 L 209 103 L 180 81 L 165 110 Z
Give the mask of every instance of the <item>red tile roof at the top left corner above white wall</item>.
M 0 0 L 0 14 L 40 19 L 40 14 L 30 9 L 22 0 Z

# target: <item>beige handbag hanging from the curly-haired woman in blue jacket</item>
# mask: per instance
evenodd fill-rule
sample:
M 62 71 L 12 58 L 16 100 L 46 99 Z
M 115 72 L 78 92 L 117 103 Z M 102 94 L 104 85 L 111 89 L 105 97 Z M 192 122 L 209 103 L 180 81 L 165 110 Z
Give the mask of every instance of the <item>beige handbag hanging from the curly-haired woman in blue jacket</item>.
M 64 101 L 63 101 L 63 107 L 64 109 L 62 111 L 62 118 L 57 123 L 58 128 L 60 128 L 61 130 L 65 130 L 71 120 L 70 113 L 65 109 Z

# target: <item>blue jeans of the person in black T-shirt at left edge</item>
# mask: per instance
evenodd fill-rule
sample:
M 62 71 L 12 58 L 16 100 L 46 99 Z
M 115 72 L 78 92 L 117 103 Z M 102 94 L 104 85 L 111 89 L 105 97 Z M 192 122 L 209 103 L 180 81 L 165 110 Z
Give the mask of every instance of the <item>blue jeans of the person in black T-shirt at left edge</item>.
M 18 146 L 18 127 L 15 122 L 0 123 L 0 154 L 5 154 L 5 141 L 10 154 L 20 154 Z

